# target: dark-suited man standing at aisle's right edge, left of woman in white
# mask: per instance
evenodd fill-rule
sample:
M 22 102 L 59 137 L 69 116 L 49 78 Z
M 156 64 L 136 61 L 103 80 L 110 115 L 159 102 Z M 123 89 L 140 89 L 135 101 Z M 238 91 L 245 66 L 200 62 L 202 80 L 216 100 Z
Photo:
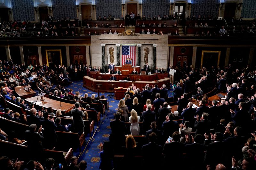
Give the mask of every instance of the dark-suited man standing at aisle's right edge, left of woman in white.
M 124 139 L 126 126 L 124 122 L 121 122 L 121 113 L 116 112 L 115 118 L 115 121 L 110 121 L 111 134 L 109 141 L 118 147 L 123 144 L 122 140 Z

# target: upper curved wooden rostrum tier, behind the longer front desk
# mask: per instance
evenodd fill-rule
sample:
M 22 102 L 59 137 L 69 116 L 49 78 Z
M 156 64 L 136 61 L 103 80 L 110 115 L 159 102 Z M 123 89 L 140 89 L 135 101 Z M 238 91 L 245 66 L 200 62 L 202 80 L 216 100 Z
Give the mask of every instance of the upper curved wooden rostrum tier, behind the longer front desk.
M 112 74 L 96 73 L 95 79 L 97 79 L 97 80 L 109 80 L 111 76 L 112 76 Z M 117 81 L 124 80 L 124 78 L 126 78 L 126 76 L 127 75 L 123 75 L 123 74 L 120 74 L 120 75 L 115 74 L 115 77 L 116 77 Z M 131 81 L 136 81 L 136 79 L 140 79 L 140 81 L 154 81 L 154 80 L 168 78 L 169 74 L 168 73 L 157 73 L 157 74 L 151 74 L 151 75 L 128 75 L 128 76 L 131 79 Z M 101 78 L 99 78 L 99 77 L 101 77 Z

